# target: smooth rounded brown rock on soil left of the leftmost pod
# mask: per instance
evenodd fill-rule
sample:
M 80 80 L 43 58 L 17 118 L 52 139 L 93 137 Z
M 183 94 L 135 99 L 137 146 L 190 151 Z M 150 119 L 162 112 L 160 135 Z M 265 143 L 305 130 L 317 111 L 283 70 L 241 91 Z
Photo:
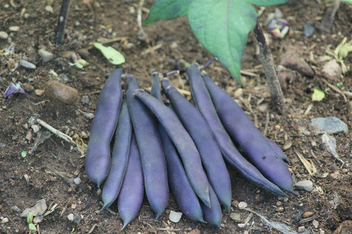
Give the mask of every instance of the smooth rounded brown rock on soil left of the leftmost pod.
M 67 84 L 50 80 L 45 86 L 45 94 L 65 104 L 73 104 L 77 99 L 78 91 Z

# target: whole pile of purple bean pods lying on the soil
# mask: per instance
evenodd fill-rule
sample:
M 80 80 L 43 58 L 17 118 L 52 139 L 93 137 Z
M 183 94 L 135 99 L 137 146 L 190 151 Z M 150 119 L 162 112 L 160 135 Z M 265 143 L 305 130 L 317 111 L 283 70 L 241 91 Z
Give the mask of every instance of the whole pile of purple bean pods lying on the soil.
M 140 211 L 144 191 L 159 218 L 169 188 L 188 218 L 220 227 L 220 204 L 230 212 L 232 196 L 226 164 L 272 194 L 296 194 L 281 148 L 259 132 L 197 63 L 186 72 L 195 105 L 167 78 L 160 82 L 158 73 L 153 74 L 151 94 L 139 88 L 133 75 L 124 78 L 123 92 L 122 69 L 113 70 L 102 88 L 85 170 L 98 187 L 104 183 L 102 209 L 117 200 L 122 229 Z

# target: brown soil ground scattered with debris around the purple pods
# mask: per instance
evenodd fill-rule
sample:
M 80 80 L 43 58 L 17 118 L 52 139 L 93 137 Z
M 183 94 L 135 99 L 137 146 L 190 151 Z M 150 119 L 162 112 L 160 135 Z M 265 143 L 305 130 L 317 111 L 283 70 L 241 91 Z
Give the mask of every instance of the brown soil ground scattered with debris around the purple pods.
M 7 40 L 0 39 L 0 51 L 14 44 L 13 54 L 0 57 L 1 93 L 10 82 L 21 82 L 23 86 L 34 88 L 28 95 L 0 98 L 1 233 L 28 233 L 28 223 L 20 217 L 21 211 L 33 207 L 43 198 L 48 210 L 53 211 L 36 224 L 40 233 L 120 232 L 122 220 L 116 204 L 111 206 L 110 211 L 100 211 L 100 190 L 87 179 L 85 155 L 75 145 L 52 134 L 30 154 L 36 139 L 45 131 L 41 128 L 34 132 L 31 121 L 40 118 L 69 136 L 79 134 L 83 142 L 88 142 L 91 119 L 87 119 L 85 113 L 94 113 L 104 81 L 112 69 L 119 67 L 111 65 L 97 49 L 86 49 L 90 42 L 100 38 L 118 38 L 107 45 L 122 52 L 126 63 L 120 67 L 124 73 L 135 75 L 145 89 L 151 85 L 149 74 L 152 71 L 167 73 L 176 69 L 182 61 L 203 65 L 212 58 L 193 36 L 185 17 L 144 27 L 148 36 L 146 40 L 137 26 L 137 4 L 136 0 L 72 1 L 63 43 L 55 45 L 61 1 L 1 1 L 0 31 L 8 32 L 10 36 Z M 146 0 L 144 8 L 150 9 L 152 4 L 153 1 Z M 45 10 L 47 5 L 52 6 L 52 12 Z M 316 73 L 314 78 L 309 78 L 298 71 L 287 71 L 289 76 L 283 91 L 286 112 L 278 113 L 270 105 L 270 91 L 254 55 L 256 45 L 252 33 L 248 36 L 242 69 L 257 75 L 243 75 L 243 85 L 240 86 L 219 62 L 213 62 L 206 69 L 211 78 L 239 101 L 259 130 L 285 149 L 291 161 L 288 167 L 294 181 L 311 180 L 314 189 L 296 189 L 298 196 L 288 195 L 289 199 L 283 200 L 248 183 L 230 169 L 233 188 L 231 212 L 240 213 L 241 222 L 232 220 L 225 209 L 221 229 L 194 222 L 186 216 L 178 223 L 170 222 L 168 213 L 179 211 L 170 196 L 166 211 L 159 220 L 155 220 L 155 214 L 144 199 L 137 218 L 122 233 L 280 233 L 266 226 L 259 216 L 250 217 L 250 211 L 239 210 L 237 202 L 246 202 L 248 208 L 264 215 L 267 220 L 289 226 L 295 232 L 299 227 L 300 231 L 305 227 L 310 233 L 333 233 L 344 220 L 352 220 L 351 133 L 331 134 L 336 139 L 336 151 L 344 161 L 342 165 L 327 151 L 321 132 L 311 127 L 311 119 L 315 117 L 338 117 L 351 128 L 351 97 L 347 95 L 347 100 L 344 100 L 331 87 L 350 91 L 352 73 L 349 71 L 342 78 L 323 82 L 325 62 L 320 58 L 329 55 L 327 49 L 335 49 L 345 36 L 351 39 L 352 6 L 341 3 L 330 34 L 316 31 L 310 38 L 303 35 L 305 23 L 316 27 L 320 25 L 329 5 L 331 3 L 325 1 L 293 1 L 265 8 L 261 15 L 260 21 L 264 23 L 267 14 L 279 8 L 292 25 L 285 38 L 272 38 L 270 48 L 275 65 L 289 52 L 305 60 Z M 146 16 L 144 10 L 142 19 Z M 12 26 L 19 26 L 19 30 L 10 32 L 9 27 Z M 264 27 L 264 30 L 267 28 Z M 54 59 L 43 62 L 38 56 L 41 48 L 51 51 Z M 67 56 L 67 51 L 80 53 L 88 65 L 83 69 L 70 66 L 72 59 Z M 36 69 L 14 67 L 20 59 L 33 62 Z M 347 56 L 344 62 L 347 66 L 351 65 L 352 56 Z M 78 90 L 78 100 L 74 104 L 63 104 L 41 93 L 46 82 L 52 79 L 52 71 L 60 78 L 66 75 L 67 85 Z M 185 80 L 185 73 L 181 72 L 180 77 Z M 179 84 L 175 75 L 170 78 Z M 184 89 L 188 89 L 185 83 Z M 311 101 L 314 89 L 325 92 L 324 100 Z M 25 157 L 21 156 L 23 151 L 27 152 Z M 315 165 L 315 175 L 309 174 L 298 154 Z M 72 183 L 72 179 L 78 177 L 81 182 Z M 316 218 L 305 220 L 302 215 L 307 211 Z M 71 213 L 76 217 L 75 222 L 67 219 Z M 240 227 L 238 224 L 248 217 L 248 224 Z M 347 233 L 352 233 L 351 229 Z

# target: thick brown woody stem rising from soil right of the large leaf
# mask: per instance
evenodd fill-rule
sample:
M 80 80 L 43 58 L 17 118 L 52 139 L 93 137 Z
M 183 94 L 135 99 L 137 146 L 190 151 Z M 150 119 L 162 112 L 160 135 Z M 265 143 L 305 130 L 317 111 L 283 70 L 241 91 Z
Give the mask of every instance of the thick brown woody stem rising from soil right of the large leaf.
M 265 40 L 263 29 L 258 20 L 256 21 L 256 27 L 254 27 L 254 34 L 259 44 L 259 61 L 263 65 L 263 71 L 266 76 L 267 85 L 270 88 L 270 93 L 272 94 L 274 106 L 278 109 L 285 110 L 283 91 L 276 75 L 272 53 L 270 52 L 269 45 L 267 45 L 267 40 Z

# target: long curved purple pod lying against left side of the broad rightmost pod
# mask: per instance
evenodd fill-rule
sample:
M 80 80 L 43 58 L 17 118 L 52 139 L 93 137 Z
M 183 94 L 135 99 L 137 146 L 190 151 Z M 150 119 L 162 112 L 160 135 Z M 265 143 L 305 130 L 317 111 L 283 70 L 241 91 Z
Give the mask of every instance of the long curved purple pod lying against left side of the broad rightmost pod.
M 198 65 L 196 63 L 192 64 L 190 67 L 186 68 L 186 72 L 188 74 L 188 78 L 190 79 L 190 91 L 192 93 L 192 99 L 212 129 L 214 138 L 219 144 L 219 148 L 223 153 L 225 161 L 230 163 L 232 167 L 234 167 L 252 183 L 263 187 L 273 194 L 287 196 L 274 183 L 270 182 L 270 180 L 267 180 L 267 178 L 265 178 L 261 172 L 256 169 L 256 167 L 244 159 L 236 149 L 230 139 L 230 136 L 226 132 L 225 128 L 223 128 L 223 125 L 217 116 L 217 111 L 212 104 L 211 97 L 208 93 L 208 90 L 206 89 L 206 85 L 201 78 L 201 73 L 199 72 Z

